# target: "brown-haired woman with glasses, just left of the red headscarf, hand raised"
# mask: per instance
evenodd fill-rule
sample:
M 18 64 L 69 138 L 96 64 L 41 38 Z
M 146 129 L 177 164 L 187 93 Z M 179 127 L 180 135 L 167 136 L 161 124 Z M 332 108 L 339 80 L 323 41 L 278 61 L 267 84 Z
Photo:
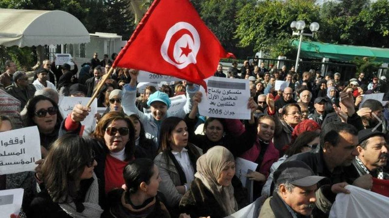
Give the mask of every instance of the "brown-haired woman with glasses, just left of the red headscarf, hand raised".
M 297 103 L 286 104 L 281 109 L 281 119 L 275 111 L 274 99 L 272 96 L 267 95 L 266 103 L 269 106 L 267 114 L 273 117 L 275 122 L 274 131 L 274 146 L 280 152 L 280 155 L 284 155 L 284 147 L 289 145 L 292 141 L 292 132 L 294 126 L 301 122 L 301 109 Z

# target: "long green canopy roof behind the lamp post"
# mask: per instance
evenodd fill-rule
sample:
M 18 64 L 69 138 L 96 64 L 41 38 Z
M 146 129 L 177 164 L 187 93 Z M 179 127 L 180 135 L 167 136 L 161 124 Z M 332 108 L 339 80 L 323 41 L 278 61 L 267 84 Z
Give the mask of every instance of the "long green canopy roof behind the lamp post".
M 292 45 L 298 48 L 298 40 Z M 327 57 L 333 61 L 350 62 L 354 57 L 375 57 L 377 62 L 389 62 L 389 48 L 375 48 L 354 45 L 337 45 L 321 42 L 301 42 L 300 57 L 322 59 Z

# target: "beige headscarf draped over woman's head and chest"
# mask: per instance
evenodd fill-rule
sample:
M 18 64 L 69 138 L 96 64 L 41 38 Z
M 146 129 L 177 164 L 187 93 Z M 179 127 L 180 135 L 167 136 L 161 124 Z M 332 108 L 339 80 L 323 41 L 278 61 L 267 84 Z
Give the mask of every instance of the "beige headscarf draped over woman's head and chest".
M 219 205 L 228 215 L 238 210 L 232 185 L 221 186 L 217 183 L 223 168 L 234 156 L 223 146 L 215 146 L 197 159 L 197 172 L 195 177 L 200 179 L 205 187 L 214 195 Z

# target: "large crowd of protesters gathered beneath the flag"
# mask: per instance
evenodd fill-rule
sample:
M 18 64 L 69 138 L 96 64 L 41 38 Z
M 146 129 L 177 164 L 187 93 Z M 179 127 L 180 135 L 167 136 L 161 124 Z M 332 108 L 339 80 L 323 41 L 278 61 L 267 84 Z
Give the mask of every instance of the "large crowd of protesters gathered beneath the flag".
M 100 61 L 57 66 L 45 60 L 33 82 L 13 61 L 0 76 L 2 95 L 19 101 L 19 116 L 0 111 L 0 131 L 37 126 L 42 159 L 35 172 L 0 175 L 0 190 L 23 188 L 19 215 L 11 217 L 224 218 L 250 204 L 235 175 L 240 157 L 258 164 L 246 176 L 252 195 L 267 198 L 259 217 L 328 217 L 347 185 L 370 190 L 388 180 L 389 111 L 370 93 L 389 97 L 385 76 L 344 81 L 340 73 L 287 71 L 285 66 L 233 62 L 215 76 L 249 80 L 248 120 L 204 117 L 199 86 L 187 81 L 137 89 L 139 71 L 116 68 L 97 94 L 103 114 L 82 135 L 91 108 L 63 117 L 60 96 L 91 97 L 116 54 Z M 369 72 L 370 73 L 370 72 Z M 275 81 L 289 81 L 275 90 Z M 168 111 L 171 97 L 186 95 Z M 8 114 L 7 114 L 8 113 Z M 8 115 L 8 116 L 7 116 Z

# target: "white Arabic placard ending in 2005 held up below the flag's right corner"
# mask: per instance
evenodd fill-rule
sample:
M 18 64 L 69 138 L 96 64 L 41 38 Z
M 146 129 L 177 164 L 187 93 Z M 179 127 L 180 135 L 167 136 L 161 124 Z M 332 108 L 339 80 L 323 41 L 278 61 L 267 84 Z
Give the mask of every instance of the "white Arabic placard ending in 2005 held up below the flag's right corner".
M 230 79 L 212 76 L 207 80 L 207 95 L 200 88 L 203 98 L 198 105 L 201 115 L 229 118 L 250 119 L 247 103 L 250 97 L 249 80 Z

